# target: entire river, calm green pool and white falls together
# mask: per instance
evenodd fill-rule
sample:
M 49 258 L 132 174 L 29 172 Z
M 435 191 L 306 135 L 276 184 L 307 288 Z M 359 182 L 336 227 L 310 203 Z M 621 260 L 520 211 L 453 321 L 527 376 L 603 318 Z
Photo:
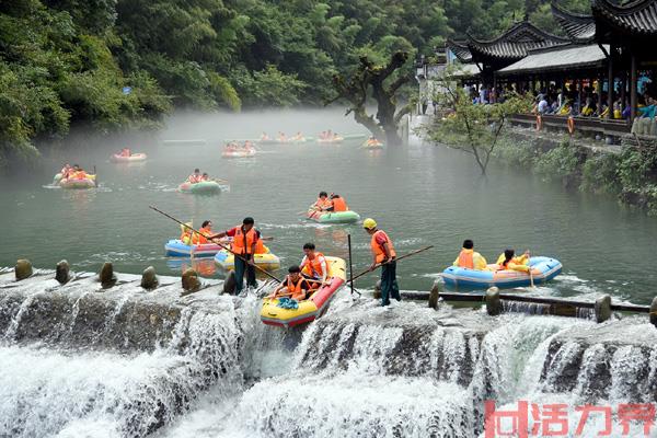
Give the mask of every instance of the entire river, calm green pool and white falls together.
M 374 217 L 400 253 L 435 245 L 400 263 L 403 289 L 430 288 L 471 238 L 489 260 L 508 245 L 561 260 L 564 274 L 535 293 L 652 300 L 657 220 L 613 199 L 568 193 L 500 163 L 482 178 L 470 155 L 419 143 L 379 152 L 354 142 L 267 146 L 251 160 L 220 158 L 223 138 L 327 128 L 361 131 L 333 111 L 188 114 L 170 120 L 161 139 L 204 138 L 207 146 L 130 143 L 149 154 L 139 165 L 106 158 L 128 140 L 53 153 L 43 173 L 2 182 L 0 265 L 28 257 L 54 267 L 68 258 L 74 269 L 93 272 L 111 260 L 122 272 L 153 265 L 177 274 L 163 245 L 178 228 L 148 208 L 155 205 L 196 224 L 211 219 L 217 229 L 253 216 L 274 238 L 270 247 L 284 266 L 299 261 L 307 241 L 346 256 L 351 233 L 361 269 L 369 240 L 359 226 L 318 226 L 298 215 L 325 189 Z M 100 188 L 48 187 L 64 161 L 95 164 Z M 229 180 L 230 191 L 177 193 L 195 166 Z M 36 278 L 2 278 L 0 436 L 481 438 L 488 399 L 505 410 L 520 401 L 565 403 L 574 431 L 576 406 L 615 412 L 620 403 L 653 403 L 657 388 L 657 330 L 645 315 L 596 324 L 489 318 L 448 304 L 436 312 L 412 301 L 385 311 L 374 300 L 338 293 L 326 315 L 286 332 L 260 322 L 252 292 L 237 298 L 208 288 L 178 298 L 171 288 L 128 286 L 96 293 L 92 277 L 62 287 L 51 278 L 41 286 Z M 359 286 L 371 288 L 374 278 Z M 146 318 L 134 306 L 139 300 L 152 304 Z M 169 306 L 183 309 L 180 319 L 162 332 L 152 328 L 158 309 L 168 314 Z M 140 336 L 143 327 L 154 337 Z M 595 417 L 577 436 L 603 428 L 603 418 Z M 627 436 L 644 436 L 639 426 L 632 431 Z

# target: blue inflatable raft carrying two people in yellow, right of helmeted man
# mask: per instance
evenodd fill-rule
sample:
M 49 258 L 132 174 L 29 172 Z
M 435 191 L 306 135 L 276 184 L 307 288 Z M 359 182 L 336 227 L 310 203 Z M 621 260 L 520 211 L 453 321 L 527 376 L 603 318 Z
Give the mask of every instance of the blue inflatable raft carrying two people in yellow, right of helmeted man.
M 463 267 L 450 266 L 442 272 L 445 285 L 454 289 L 487 289 L 496 286 L 516 288 L 531 286 L 529 274 L 518 270 L 493 270 L 497 265 L 488 265 L 491 270 L 474 270 Z M 561 274 L 560 261 L 550 257 L 531 257 L 529 260 L 534 285 L 550 281 Z

